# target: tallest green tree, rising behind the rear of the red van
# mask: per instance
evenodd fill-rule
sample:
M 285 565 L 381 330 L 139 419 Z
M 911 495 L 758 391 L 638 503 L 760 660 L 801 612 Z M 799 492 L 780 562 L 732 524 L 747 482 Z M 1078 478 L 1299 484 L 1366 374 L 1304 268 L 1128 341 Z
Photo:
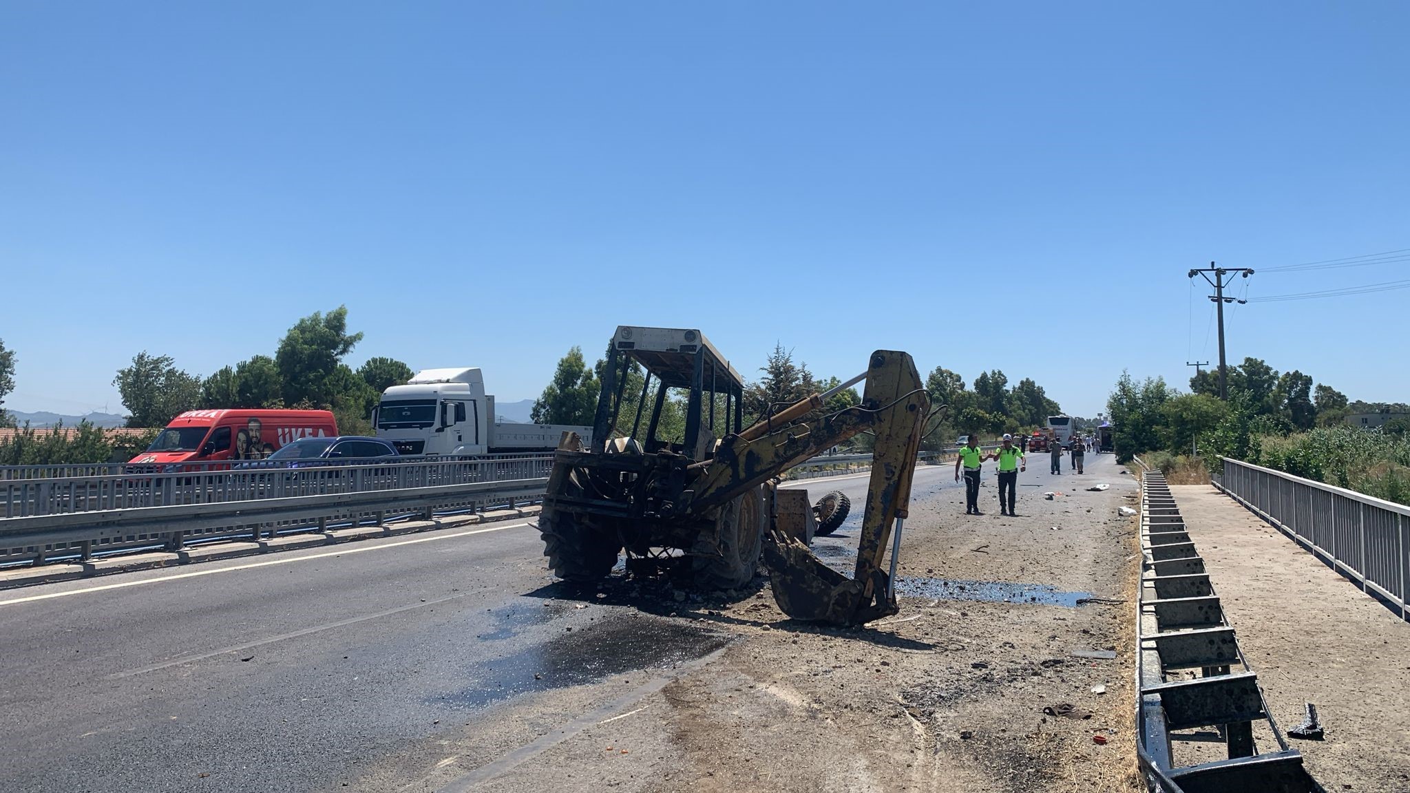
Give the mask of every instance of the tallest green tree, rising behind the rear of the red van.
M 361 333 L 347 332 L 347 306 L 326 315 L 313 312 L 296 322 L 279 341 L 274 360 L 283 381 L 286 405 L 333 405 L 338 395 L 334 388 L 345 384 L 343 378 L 334 378 L 334 373 L 343 357 L 362 340 Z

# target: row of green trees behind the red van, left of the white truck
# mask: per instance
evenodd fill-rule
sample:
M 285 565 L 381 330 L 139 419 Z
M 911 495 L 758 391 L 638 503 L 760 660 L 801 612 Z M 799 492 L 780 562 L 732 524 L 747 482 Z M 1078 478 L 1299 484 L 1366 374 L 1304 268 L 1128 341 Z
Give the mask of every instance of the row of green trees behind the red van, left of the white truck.
M 138 353 L 113 378 L 128 411 L 127 426 L 164 426 L 197 408 L 329 409 L 341 432 L 368 435 L 368 416 L 382 391 L 412 378 L 395 358 L 369 358 L 357 370 L 343 358 L 362 340 L 348 333 L 347 308 L 313 312 L 289 329 L 275 354 L 251 356 L 202 378 L 176 367 L 171 356 Z

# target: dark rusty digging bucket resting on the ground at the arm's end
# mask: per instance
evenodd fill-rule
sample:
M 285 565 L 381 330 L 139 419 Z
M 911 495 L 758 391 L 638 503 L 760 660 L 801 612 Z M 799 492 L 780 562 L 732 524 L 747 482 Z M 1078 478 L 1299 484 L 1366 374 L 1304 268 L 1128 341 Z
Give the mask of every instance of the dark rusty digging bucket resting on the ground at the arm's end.
M 781 532 L 771 532 L 764 542 L 764 566 L 778 608 L 794 619 L 863 625 L 898 611 L 884 571 L 873 573 L 869 598 L 862 583 L 828 567 L 808 546 Z

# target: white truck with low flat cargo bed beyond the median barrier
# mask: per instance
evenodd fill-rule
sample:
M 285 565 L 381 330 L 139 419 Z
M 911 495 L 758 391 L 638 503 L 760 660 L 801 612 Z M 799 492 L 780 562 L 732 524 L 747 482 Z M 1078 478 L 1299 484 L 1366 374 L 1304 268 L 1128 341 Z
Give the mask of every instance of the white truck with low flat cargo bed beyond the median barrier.
M 553 452 L 564 432 L 587 443 L 591 426 L 495 422 L 495 398 L 478 368 L 429 368 L 382 392 L 372 412 L 376 436 L 402 454 L 479 456 Z

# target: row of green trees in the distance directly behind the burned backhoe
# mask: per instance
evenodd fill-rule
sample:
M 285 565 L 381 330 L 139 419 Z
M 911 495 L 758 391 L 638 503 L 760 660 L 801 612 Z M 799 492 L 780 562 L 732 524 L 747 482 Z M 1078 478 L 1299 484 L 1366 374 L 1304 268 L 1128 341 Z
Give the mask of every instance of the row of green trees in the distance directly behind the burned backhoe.
M 591 425 L 596 412 L 605 367 L 606 356 L 598 358 L 596 364 L 589 368 L 582 350 L 580 347 L 571 349 L 558 361 L 553 381 L 534 401 L 533 420 L 537 423 Z M 840 384 L 836 377 L 819 378 L 814 375 L 808 364 L 794 361 L 792 351 L 783 344 L 774 344 L 774 350 L 767 356 L 759 373 L 759 380 L 747 382 L 744 387 L 744 426 L 784 405 L 791 405 L 811 394 L 829 391 Z M 640 394 L 643 380 L 642 371 L 633 367 L 627 374 L 623 394 Z M 1008 377 L 1000 370 L 980 373 L 970 388 L 959 374 L 938 367 L 926 377 L 925 389 L 932 405 L 949 406 L 946 419 L 939 426 L 928 428 L 931 432 L 925 443 L 931 449 L 953 443 L 956 433 L 997 436 L 1004 432 L 1025 432 L 1045 426 L 1048 416 L 1060 412 L 1058 402 L 1049 399 L 1043 388 L 1032 378 L 1024 378 L 1010 387 Z M 639 423 L 634 405 L 626 398 L 623 401 L 626 404 L 618 415 L 618 432 L 632 435 L 632 428 L 637 426 L 637 435 L 643 435 L 646 420 Z M 860 402 L 857 391 L 847 388 L 832 395 L 823 412 L 836 412 Z M 647 409 L 650 409 L 650 404 Z M 722 416 L 723 411 L 725 399 L 721 396 L 716 415 Z M 680 440 L 685 433 L 684 395 L 667 399 L 661 413 L 657 436 Z M 719 423 L 718 433 L 722 430 L 723 422 Z M 867 439 L 856 439 L 854 446 L 864 449 Z

